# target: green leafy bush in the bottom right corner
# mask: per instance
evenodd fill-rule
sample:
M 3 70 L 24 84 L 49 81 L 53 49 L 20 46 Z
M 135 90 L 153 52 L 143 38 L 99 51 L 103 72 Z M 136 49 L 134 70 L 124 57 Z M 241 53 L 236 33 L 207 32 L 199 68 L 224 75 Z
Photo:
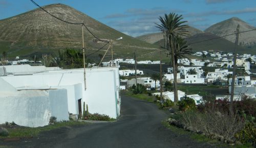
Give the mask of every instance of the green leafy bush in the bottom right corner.
M 256 144 L 256 126 L 255 123 L 247 123 L 245 127 L 238 132 L 235 137 L 242 143 Z

